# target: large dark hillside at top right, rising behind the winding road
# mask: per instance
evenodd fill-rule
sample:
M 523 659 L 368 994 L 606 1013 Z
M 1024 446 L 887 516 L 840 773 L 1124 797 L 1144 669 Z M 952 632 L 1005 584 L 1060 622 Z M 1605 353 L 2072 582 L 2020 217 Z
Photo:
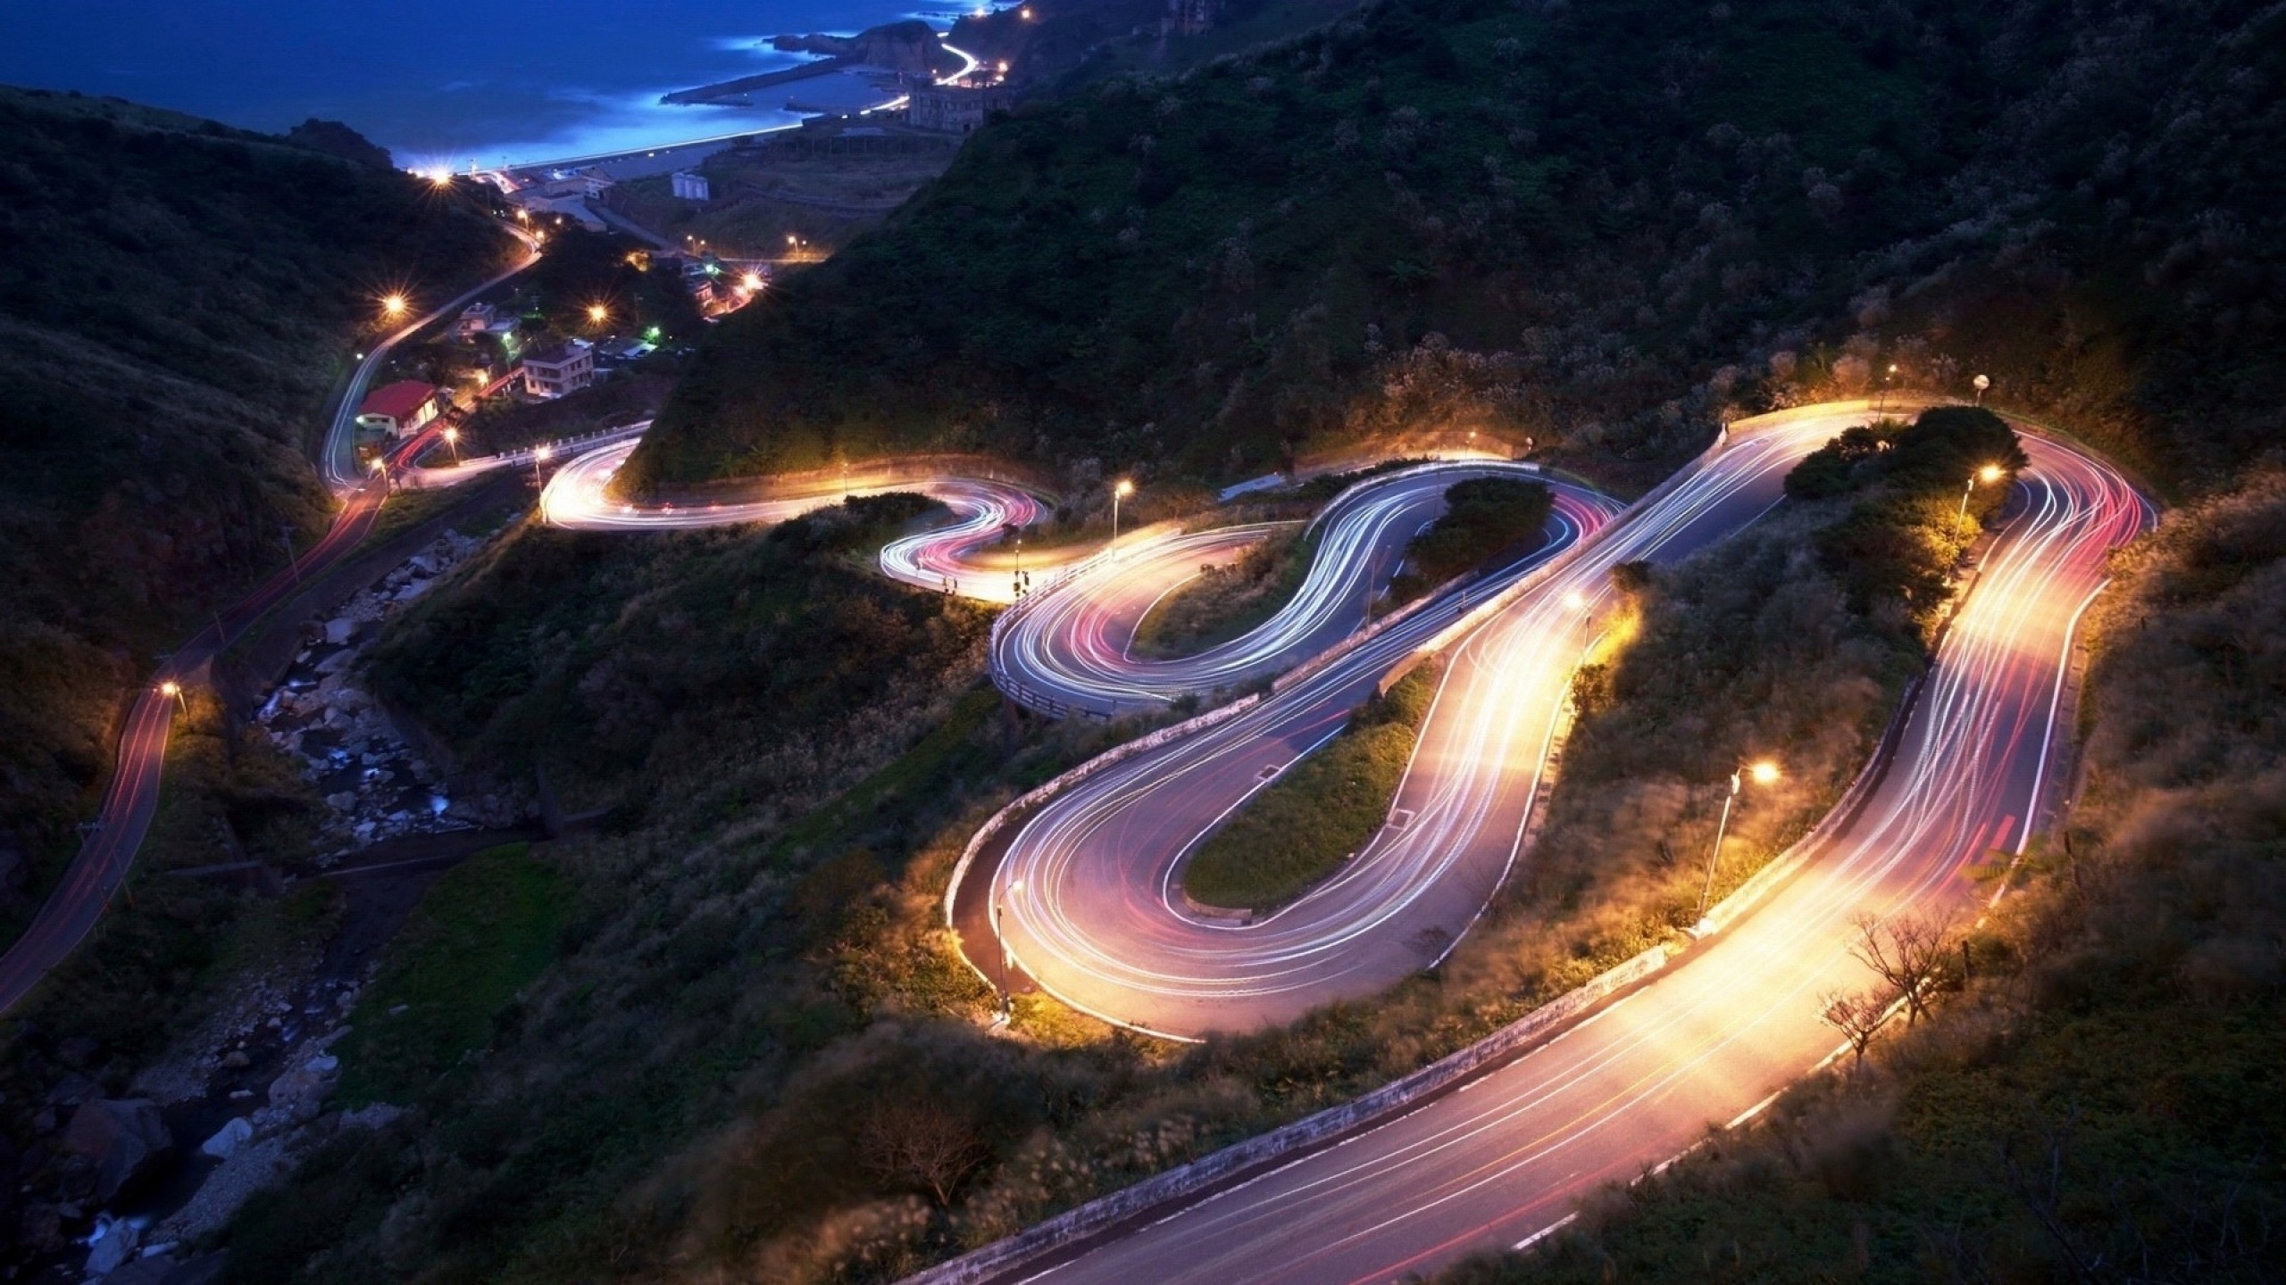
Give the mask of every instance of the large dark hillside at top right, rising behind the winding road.
M 1664 460 L 1772 375 L 1893 361 L 2135 421 L 2169 311 L 2272 325 L 2222 261 L 2275 217 L 2195 71 L 2254 9 L 2142 14 L 1401 0 L 1038 101 L 727 322 L 626 485 L 914 446 L 1228 478 L 1422 418 Z

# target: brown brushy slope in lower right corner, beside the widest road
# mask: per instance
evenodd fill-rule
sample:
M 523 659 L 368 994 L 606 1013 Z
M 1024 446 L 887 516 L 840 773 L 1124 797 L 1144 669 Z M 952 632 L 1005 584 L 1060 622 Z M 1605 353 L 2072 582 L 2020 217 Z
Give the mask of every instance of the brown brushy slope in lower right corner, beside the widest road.
M 1936 1017 L 1548 1253 L 1447 1280 L 2286 1271 L 2286 476 L 2172 514 L 2119 569 L 2069 839 L 2030 853 Z

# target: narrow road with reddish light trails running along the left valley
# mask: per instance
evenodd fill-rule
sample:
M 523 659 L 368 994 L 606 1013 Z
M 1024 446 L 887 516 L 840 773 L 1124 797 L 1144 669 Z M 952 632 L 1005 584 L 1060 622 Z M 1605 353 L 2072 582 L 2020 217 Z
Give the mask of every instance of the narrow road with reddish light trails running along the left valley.
M 523 238 L 523 233 L 517 236 Z M 347 386 L 341 391 L 341 405 L 318 448 L 318 473 L 341 501 L 334 526 L 242 601 L 217 613 L 213 624 L 160 663 L 158 672 L 151 675 L 151 681 L 135 697 L 119 732 L 119 766 L 103 789 L 103 805 L 87 839 L 71 857 L 62 883 L 55 885 L 55 892 L 48 894 L 48 901 L 32 917 L 32 924 L 9 944 L 7 953 L 0 953 L 0 1013 L 21 1004 L 48 976 L 48 969 L 64 963 L 78 949 L 135 864 L 135 851 L 151 830 L 151 816 L 158 809 L 160 771 L 167 761 L 167 732 L 174 727 L 174 716 L 181 709 L 176 697 L 162 693 L 162 686 L 194 686 L 203 681 L 217 652 L 238 640 L 272 606 L 288 599 L 304 578 L 322 574 L 338 558 L 357 549 L 373 530 L 375 519 L 379 519 L 389 489 L 373 473 L 357 469 L 354 428 L 366 384 L 382 368 L 389 350 L 411 334 L 455 316 L 475 295 L 530 268 L 537 261 L 537 249 L 533 249 L 530 238 L 523 238 L 523 242 L 530 254 L 517 268 L 375 343 L 350 375 Z M 400 441 L 389 455 L 389 469 L 398 471 L 407 466 L 421 450 L 425 450 L 421 439 Z

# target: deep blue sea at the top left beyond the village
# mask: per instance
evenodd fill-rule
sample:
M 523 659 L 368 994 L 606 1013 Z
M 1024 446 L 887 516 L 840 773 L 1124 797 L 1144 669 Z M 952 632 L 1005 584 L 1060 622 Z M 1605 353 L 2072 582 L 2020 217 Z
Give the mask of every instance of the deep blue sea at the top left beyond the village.
M 914 7 L 914 5 L 921 7 Z M 802 62 L 782 32 L 853 34 L 928 0 L 5 0 L 0 82 L 117 94 L 233 126 L 347 121 L 400 167 L 629 151 L 793 123 L 658 96 Z M 782 101 L 782 94 L 775 96 Z

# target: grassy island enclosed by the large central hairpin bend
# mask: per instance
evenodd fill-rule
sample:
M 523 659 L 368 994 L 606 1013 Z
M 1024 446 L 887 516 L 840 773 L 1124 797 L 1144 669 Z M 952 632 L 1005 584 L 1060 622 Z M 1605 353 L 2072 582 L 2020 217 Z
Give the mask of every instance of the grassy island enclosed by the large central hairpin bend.
M 1246 800 L 1191 853 L 1182 889 L 1207 905 L 1269 910 L 1358 853 L 1388 821 L 1442 668 L 1420 665 L 1349 727 Z

